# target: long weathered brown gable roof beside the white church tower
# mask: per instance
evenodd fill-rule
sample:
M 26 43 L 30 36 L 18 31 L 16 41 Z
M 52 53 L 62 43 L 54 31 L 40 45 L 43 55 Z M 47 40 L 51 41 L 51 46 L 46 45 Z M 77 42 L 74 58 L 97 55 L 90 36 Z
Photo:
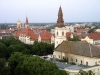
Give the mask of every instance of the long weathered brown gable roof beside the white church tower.
M 63 41 L 55 51 L 81 55 L 86 57 L 97 57 L 100 56 L 100 49 L 89 43 L 75 42 L 75 41 Z

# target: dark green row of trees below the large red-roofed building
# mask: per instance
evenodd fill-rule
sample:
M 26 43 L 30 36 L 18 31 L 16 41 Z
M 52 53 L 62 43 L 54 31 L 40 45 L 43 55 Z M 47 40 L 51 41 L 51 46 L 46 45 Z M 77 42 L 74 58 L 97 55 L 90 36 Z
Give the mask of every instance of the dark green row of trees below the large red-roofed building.
M 53 53 L 54 44 L 35 41 L 33 45 L 24 44 L 14 37 L 0 40 L 0 58 L 9 58 L 13 52 L 47 55 Z

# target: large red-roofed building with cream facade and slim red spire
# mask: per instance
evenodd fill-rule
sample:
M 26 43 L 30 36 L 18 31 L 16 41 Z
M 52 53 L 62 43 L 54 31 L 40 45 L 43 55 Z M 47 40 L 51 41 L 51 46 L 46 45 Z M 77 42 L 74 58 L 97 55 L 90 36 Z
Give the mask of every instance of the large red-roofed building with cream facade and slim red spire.
M 34 41 L 54 43 L 54 36 L 47 30 L 30 28 L 27 17 L 25 27 L 18 28 L 14 36 L 25 44 L 33 44 Z

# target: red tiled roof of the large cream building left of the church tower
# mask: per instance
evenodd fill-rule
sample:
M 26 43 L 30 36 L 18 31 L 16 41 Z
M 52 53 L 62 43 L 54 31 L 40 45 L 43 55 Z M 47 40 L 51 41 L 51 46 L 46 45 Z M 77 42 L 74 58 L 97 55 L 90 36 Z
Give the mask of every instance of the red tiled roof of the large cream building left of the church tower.
M 51 40 L 51 36 L 52 34 L 49 33 L 47 30 L 43 29 L 41 30 L 40 33 L 35 33 L 33 32 L 29 27 L 27 28 L 23 28 L 23 29 L 19 29 L 16 33 L 15 33 L 15 37 L 19 37 L 20 34 L 25 34 L 26 36 L 30 36 L 30 39 L 32 40 L 38 40 L 39 34 L 41 37 L 41 40 Z

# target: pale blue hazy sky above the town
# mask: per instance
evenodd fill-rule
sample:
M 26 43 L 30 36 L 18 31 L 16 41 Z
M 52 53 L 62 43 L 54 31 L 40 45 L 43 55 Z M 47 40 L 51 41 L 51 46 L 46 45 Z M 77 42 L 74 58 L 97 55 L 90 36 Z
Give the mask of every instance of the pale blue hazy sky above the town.
M 56 23 L 60 5 L 64 22 L 100 22 L 100 0 L 0 0 L 0 23 Z

